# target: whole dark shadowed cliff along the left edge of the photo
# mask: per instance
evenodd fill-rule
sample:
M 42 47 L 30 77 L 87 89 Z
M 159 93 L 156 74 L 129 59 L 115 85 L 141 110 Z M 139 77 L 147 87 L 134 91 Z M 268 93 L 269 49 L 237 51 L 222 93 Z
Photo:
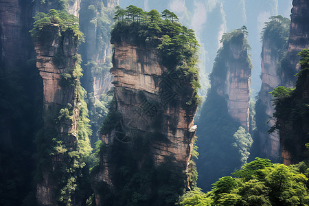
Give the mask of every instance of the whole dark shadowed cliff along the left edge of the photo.
M 40 76 L 29 35 L 31 1 L 0 1 L 0 202 L 22 205 L 32 190 L 34 134 L 41 127 Z M 14 185 L 14 187 L 10 187 Z

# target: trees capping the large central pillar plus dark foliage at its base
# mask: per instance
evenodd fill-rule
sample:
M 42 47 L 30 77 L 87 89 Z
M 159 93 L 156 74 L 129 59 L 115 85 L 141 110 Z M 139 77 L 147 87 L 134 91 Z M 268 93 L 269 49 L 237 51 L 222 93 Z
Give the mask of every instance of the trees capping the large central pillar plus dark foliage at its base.
M 168 68 L 162 78 L 165 78 L 165 74 L 176 70 L 183 71 L 176 73 L 177 75 L 181 74 L 185 76 L 185 80 L 189 79 L 185 85 L 181 84 L 181 87 L 185 87 L 185 91 L 190 90 L 187 92 L 190 95 L 187 95 L 186 92 L 179 95 L 190 96 L 191 102 L 188 101 L 185 104 L 186 101 L 183 99 L 183 102 L 179 100 L 174 100 L 174 102 L 180 103 L 184 108 L 190 107 L 192 104 L 192 108 L 196 108 L 194 107 L 196 100 L 192 94 L 196 95 L 196 89 L 199 87 L 198 71 L 195 66 L 198 45 L 197 42 L 190 43 L 189 41 L 192 41 L 193 37 L 188 37 L 188 35 L 194 36 L 193 30 L 187 30 L 177 23 L 178 17 L 168 10 L 162 12 L 162 18 L 164 20 L 161 19 L 161 14 L 155 10 L 146 13 L 133 5 L 130 5 L 126 10 L 117 8 L 111 43 L 115 43 L 115 47 L 121 43 L 134 44 L 138 47 L 149 48 L 151 52 L 156 52 L 156 54 L 161 54 L 163 62 L 159 63 Z M 184 82 L 183 76 L 177 77 Z M 169 84 L 168 87 L 170 86 Z M 122 93 L 133 95 L 126 89 Z M 139 91 L 136 95 L 139 95 L 141 99 L 145 98 L 143 91 Z M 194 163 L 194 158 L 198 155 L 196 146 L 192 152 L 194 157 L 189 162 L 186 172 L 184 171 L 185 164 L 176 161 L 174 155 L 170 155 L 169 152 L 164 155 L 164 160 L 154 159 L 157 157 L 157 154 L 154 154 L 155 145 L 170 144 L 170 140 L 162 133 L 163 118 L 170 118 L 170 121 L 174 122 L 176 122 L 174 120 L 176 118 L 163 111 L 158 111 L 152 117 L 146 130 L 125 128 L 122 125 L 124 122 L 122 114 L 117 111 L 115 103 L 111 103 L 110 111 L 102 126 L 102 134 L 110 135 L 113 142 L 108 146 L 101 144 L 98 151 L 98 154 L 101 155 L 100 159 L 104 159 L 108 154 L 108 172 L 110 172 L 108 178 L 113 183 L 113 189 L 111 190 L 111 186 L 104 181 L 95 185 L 96 193 L 100 194 L 100 201 L 104 205 L 174 205 L 179 196 L 183 194 L 185 187 L 188 185 L 192 187 L 196 184 L 197 173 Z M 170 103 L 170 105 L 172 104 Z M 172 125 L 174 126 L 176 123 Z M 174 130 L 172 131 L 174 132 Z M 128 133 L 135 133 L 133 141 L 124 141 L 129 136 Z M 189 145 L 192 137 L 187 138 Z M 96 173 L 98 171 L 95 170 L 98 170 L 98 166 L 93 168 L 93 175 L 98 174 Z

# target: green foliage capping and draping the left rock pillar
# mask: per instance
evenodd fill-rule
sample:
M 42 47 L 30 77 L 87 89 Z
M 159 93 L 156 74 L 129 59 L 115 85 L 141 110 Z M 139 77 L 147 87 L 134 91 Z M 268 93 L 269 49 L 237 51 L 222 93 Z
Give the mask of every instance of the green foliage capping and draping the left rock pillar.
M 52 201 L 59 205 L 74 205 L 75 202 L 85 202 L 91 195 L 91 190 L 89 190 L 91 187 L 89 167 L 93 161 L 89 141 L 91 127 L 87 103 L 84 100 L 86 91 L 80 86 L 82 76 L 80 56 L 78 54 L 65 56 L 62 47 L 64 45 L 63 36 L 67 35 L 71 43 L 69 47 L 72 51 L 77 51 L 78 44 L 83 41 L 83 34 L 79 30 L 78 19 L 66 12 L 49 10 L 48 14 L 38 13 L 34 19 L 36 20 L 34 28 L 30 31 L 32 38 L 35 43 L 45 45 L 43 49 L 55 49 L 56 47 L 54 65 L 63 68 L 67 60 L 75 62 L 73 67 L 62 71 L 59 86 L 62 91 L 73 92 L 71 95 L 76 104 L 68 103 L 63 107 L 49 106 L 49 110 L 45 112 L 45 128 L 38 132 L 36 137 L 38 148 L 36 181 L 40 183 L 42 178 L 47 178 L 42 176 L 42 172 L 49 175 L 49 179 L 58 179 L 55 183 L 56 199 Z M 56 28 L 58 32 L 45 36 L 51 28 Z M 50 41 L 49 38 L 60 39 L 59 44 L 56 46 L 46 44 Z M 74 120 L 78 124 L 77 130 L 68 134 L 63 133 L 61 127 L 66 124 L 73 126 Z

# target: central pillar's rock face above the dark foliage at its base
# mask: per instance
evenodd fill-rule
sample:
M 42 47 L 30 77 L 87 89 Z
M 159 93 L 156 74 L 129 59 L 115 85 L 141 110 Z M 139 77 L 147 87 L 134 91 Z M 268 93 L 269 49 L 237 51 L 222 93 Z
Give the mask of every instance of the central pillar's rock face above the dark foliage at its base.
M 196 106 L 187 104 L 194 94 L 190 81 L 181 77 L 181 71 L 168 74 L 167 68 L 161 65 L 158 49 L 152 45 L 137 46 L 130 40 L 115 43 L 111 73 L 115 85 L 115 113 L 122 118 L 111 126 L 110 133 L 103 135 L 106 146 L 113 150 L 120 145 L 134 153 L 134 150 L 141 150 L 134 146 L 140 138 L 144 139 L 149 144 L 141 159 L 150 154 L 155 168 L 169 159 L 176 165 L 174 172 L 187 174 L 195 134 L 195 130 L 190 132 L 189 129 L 194 126 L 196 113 Z M 115 162 L 110 161 L 113 158 L 110 154 L 103 155 L 95 181 L 115 187 Z M 137 170 L 143 164 L 144 160 L 137 161 Z M 102 195 L 95 190 L 97 205 L 101 204 Z

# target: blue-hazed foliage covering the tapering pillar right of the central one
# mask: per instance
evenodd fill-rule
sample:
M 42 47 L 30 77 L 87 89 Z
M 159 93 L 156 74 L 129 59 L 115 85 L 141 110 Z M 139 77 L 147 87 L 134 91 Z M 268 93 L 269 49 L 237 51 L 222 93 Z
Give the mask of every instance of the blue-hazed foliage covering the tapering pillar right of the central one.
M 246 163 L 252 144 L 251 135 L 241 127 L 240 122 L 228 113 L 226 97 L 217 93 L 224 90 L 227 67 L 240 64 L 251 69 L 249 45 L 246 30 L 235 30 L 222 36 L 223 47 L 218 50 L 213 71 L 210 74 L 211 88 L 198 119 L 198 185 L 210 189 L 220 176 L 228 175 Z M 242 58 L 235 60 L 231 49 L 240 48 Z M 233 71 L 231 71 L 233 72 Z

